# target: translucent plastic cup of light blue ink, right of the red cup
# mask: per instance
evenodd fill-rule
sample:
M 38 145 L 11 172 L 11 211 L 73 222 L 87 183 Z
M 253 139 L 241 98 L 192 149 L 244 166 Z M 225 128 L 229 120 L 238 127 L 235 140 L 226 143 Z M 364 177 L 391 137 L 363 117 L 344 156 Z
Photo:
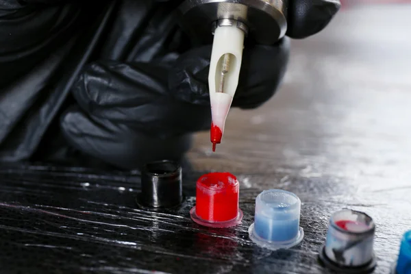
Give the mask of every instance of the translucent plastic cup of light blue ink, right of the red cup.
M 254 223 L 249 237 L 266 249 L 287 249 L 303 240 L 299 227 L 301 201 L 297 195 L 285 190 L 264 190 L 256 198 Z

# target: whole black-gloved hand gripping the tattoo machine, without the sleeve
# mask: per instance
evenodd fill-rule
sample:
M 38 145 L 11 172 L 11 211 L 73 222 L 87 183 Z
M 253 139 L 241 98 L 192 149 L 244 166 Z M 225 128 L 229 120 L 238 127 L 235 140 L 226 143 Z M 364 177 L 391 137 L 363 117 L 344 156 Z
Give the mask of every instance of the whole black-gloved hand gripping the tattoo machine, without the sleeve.
M 67 140 L 88 155 L 123 168 L 181 158 L 190 133 L 210 128 L 208 66 L 211 45 L 191 48 L 171 10 L 178 1 L 121 1 L 101 50 L 72 92 L 77 100 L 61 118 Z M 338 0 L 290 0 L 288 32 L 321 31 Z M 256 108 L 282 81 L 289 40 L 252 45 L 243 53 L 233 107 Z

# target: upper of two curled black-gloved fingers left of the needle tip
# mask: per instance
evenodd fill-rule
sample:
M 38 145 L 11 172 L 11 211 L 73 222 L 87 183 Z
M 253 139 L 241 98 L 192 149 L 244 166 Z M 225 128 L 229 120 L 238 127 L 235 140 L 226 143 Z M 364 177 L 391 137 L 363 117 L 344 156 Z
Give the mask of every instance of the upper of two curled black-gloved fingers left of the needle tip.
M 208 128 L 210 108 L 171 97 L 168 73 L 161 64 L 98 62 L 82 73 L 73 95 L 92 118 L 151 136 L 169 138 Z

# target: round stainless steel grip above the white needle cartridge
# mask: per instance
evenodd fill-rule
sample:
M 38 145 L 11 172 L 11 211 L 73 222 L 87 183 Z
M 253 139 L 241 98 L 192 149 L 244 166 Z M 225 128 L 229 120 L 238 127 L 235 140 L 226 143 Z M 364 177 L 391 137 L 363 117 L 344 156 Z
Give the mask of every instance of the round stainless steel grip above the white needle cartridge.
M 248 38 L 271 45 L 286 34 L 288 0 L 186 0 L 179 6 L 186 29 L 212 41 L 216 22 L 234 19 L 247 26 Z

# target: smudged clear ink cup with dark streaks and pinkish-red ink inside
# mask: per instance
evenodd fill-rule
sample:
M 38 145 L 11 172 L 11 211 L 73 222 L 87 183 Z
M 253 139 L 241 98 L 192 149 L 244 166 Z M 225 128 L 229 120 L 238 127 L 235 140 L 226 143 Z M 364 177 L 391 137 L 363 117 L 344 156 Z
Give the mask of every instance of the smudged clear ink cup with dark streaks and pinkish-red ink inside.
M 340 210 L 329 219 L 321 262 L 334 271 L 371 273 L 376 260 L 373 251 L 375 224 L 364 212 Z

